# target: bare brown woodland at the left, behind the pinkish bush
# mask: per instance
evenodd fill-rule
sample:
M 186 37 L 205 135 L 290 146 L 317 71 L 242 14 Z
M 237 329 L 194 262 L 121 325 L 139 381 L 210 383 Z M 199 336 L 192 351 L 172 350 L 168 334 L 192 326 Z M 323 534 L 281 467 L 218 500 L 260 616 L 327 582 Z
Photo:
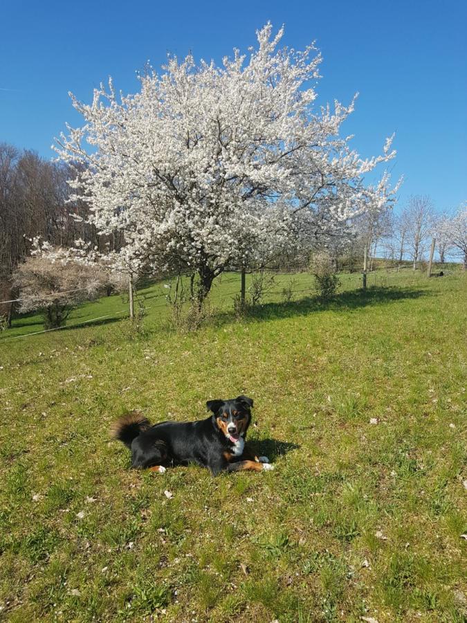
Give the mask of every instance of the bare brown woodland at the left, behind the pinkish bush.
M 33 239 L 56 247 L 82 239 L 99 251 L 118 250 L 120 235 L 99 236 L 87 222 L 89 208 L 71 201 L 67 180 L 76 167 L 0 143 L 0 301 L 17 298 L 13 275 L 30 256 Z M 8 323 L 13 306 L 0 305 Z

